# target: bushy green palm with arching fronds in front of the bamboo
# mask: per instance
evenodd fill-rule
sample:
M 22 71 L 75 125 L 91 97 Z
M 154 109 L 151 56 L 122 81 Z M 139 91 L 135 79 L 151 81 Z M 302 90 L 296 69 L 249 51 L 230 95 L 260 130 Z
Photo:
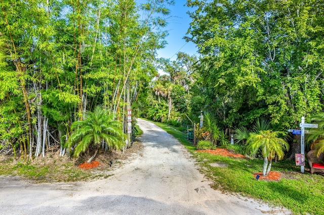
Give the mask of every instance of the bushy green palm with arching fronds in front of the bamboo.
M 97 155 L 103 140 L 109 148 L 121 149 L 127 138 L 121 129 L 121 123 L 114 121 L 113 115 L 100 106 L 97 106 L 94 112 L 87 113 L 84 120 L 74 122 L 72 131 L 67 146 L 71 147 L 76 144 L 74 157 L 85 152 L 91 143 L 95 147 L 95 153 L 88 163 Z

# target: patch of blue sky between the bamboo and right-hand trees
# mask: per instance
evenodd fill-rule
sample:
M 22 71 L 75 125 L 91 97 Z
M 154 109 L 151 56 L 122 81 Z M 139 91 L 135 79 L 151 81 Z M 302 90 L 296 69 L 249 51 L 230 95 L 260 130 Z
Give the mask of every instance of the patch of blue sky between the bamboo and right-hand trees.
M 159 58 L 171 59 L 173 61 L 176 60 L 176 53 L 179 51 L 191 56 L 197 52 L 194 43 L 186 43 L 183 39 L 191 21 L 186 12 L 192 9 L 184 6 L 186 0 L 175 0 L 175 2 L 174 6 L 170 6 L 172 17 L 168 19 L 168 26 L 166 27 L 166 30 L 169 32 L 169 36 L 166 38 L 168 44 L 165 48 L 157 50 L 157 56 Z

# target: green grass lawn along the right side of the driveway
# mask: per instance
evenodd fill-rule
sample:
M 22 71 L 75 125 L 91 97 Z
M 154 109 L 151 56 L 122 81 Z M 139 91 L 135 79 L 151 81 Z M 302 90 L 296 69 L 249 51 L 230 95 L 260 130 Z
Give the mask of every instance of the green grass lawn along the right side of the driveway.
M 324 176 L 305 172 L 294 161 L 272 163 L 272 171 L 281 173 L 279 181 L 256 180 L 253 173 L 261 172 L 263 160 L 242 159 L 206 152 L 197 152 L 191 142 L 183 139 L 183 134 L 169 126 L 155 123 L 176 137 L 197 160 L 199 170 L 214 183 L 212 187 L 222 191 L 236 192 L 249 197 L 281 205 L 296 214 L 324 214 Z M 226 168 L 211 164 L 226 164 Z

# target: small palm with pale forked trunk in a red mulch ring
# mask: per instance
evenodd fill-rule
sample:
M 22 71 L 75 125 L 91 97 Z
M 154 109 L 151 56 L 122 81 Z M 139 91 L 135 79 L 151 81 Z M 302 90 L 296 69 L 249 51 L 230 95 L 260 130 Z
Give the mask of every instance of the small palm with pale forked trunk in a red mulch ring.
M 285 136 L 284 132 L 263 130 L 259 133 L 251 133 L 247 139 L 247 149 L 253 152 L 261 150 L 264 159 L 262 175 L 268 175 L 271 170 L 272 159 L 278 157 L 282 159 L 285 156 L 284 150 L 289 149 L 289 144 L 284 138 L 278 137 L 279 135 Z M 268 166 L 269 160 L 269 166 Z

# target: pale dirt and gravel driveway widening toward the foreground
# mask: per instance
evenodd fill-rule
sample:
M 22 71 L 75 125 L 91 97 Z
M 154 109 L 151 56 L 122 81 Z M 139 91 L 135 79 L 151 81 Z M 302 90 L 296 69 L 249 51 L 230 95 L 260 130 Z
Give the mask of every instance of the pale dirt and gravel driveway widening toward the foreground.
M 186 149 L 138 120 L 142 153 L 94 182 L 31 184 L 0 177 L 0 214 L 289 214 L 213 190 Z

